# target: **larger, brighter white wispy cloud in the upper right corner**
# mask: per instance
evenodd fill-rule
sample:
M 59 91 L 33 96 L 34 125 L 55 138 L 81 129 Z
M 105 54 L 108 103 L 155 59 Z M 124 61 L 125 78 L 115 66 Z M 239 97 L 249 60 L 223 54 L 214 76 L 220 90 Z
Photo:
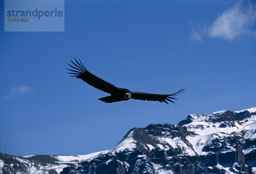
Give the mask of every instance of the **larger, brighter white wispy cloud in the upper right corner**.
M 224 38 L 228 41 L 240 38 L 242 35 L 256 36 L 256 4 L 238 1 L 234 6 L 225 10 L 209 26 L 198 24 L 192 26 L 193 41 L 202 41 L 204 36 L 211 38 Z

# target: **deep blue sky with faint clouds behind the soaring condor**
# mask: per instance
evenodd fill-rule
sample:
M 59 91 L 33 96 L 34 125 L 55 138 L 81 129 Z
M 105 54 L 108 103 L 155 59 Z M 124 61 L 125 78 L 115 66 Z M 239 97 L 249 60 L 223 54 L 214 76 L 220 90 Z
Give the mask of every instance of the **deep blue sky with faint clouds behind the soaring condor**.
M 255 1 L 65 0 L 65 32 L 3 32 L 0 6 L 1 153 L 89 154 L 134 127 L 256 106 Z M 186 92 L 107 104 L 67 74 L 73 58 L 131 91 Z

